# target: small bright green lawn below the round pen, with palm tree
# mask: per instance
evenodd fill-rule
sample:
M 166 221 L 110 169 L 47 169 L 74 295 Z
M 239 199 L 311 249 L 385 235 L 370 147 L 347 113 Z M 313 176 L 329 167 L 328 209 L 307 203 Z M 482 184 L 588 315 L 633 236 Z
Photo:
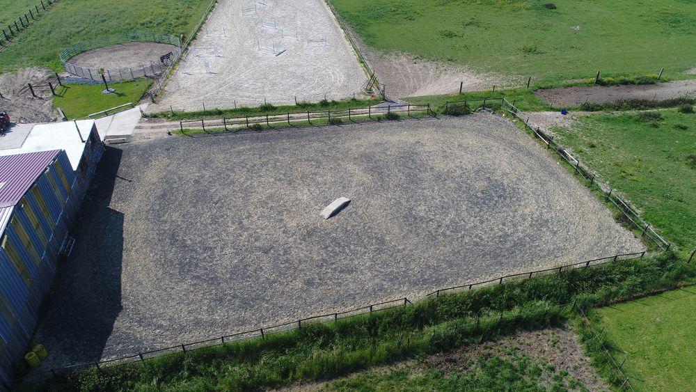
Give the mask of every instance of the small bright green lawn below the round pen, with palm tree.
M 91 113 L 128 102 L 138 104 L 151 85 L 152 81 L 147 79 L 114 83 L 109 84 L 109 87 L 116 88 L 116 93 L 102 94 L 102 85 L 65 84 L 56 89 L 58 95 L 53 97 L 53 105 L 60 107 L 70 119 L 84 118 Z

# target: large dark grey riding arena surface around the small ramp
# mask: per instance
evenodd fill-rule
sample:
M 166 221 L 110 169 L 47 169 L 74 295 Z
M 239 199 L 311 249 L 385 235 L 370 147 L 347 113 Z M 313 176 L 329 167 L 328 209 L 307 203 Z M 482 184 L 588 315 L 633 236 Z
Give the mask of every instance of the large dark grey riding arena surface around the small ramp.
M 35 338 L 47 366 L 643 249 L 489 113 L 172 136 L 97 173 Z

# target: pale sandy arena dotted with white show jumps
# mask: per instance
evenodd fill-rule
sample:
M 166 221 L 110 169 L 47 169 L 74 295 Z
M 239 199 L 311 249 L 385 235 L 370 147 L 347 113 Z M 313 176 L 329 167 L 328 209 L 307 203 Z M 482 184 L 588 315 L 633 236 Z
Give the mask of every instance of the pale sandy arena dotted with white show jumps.
M 338 99 L 366 81 L 323 0 L 222 0 L 150 111 Z

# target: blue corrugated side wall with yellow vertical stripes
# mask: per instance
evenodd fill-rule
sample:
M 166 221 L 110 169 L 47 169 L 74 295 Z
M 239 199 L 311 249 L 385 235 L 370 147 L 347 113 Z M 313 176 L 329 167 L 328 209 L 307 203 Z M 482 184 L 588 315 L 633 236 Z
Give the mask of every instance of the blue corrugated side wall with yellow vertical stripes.
M 87 166 L 83 171 L 72 171 L 68 155 L 60 151 L 54 155 L 55 160 L 47 161 L 33 184 L 25 187 L 23 197 L 17 198 L 24 208 L 21 205 L 0 207 L 0 221 L 6 222 L 3 236 L 17 254 L 20 267 L 26 269 L 32 279 L 31 283 L 26 283 L 10 256 L 0 248 L 0 296 L 12 313 L 10 320 L 0 314 L 0 338 L 8 343 L 4 352 L 0 350 L 0 380 L 4 382 L 10 380 L 10 363 L 21 358 L 29 343 L 38 308 L 56 272 L 60 246 L 102 157 L 102 143 L 90 143 L 88 147 L 84 152 Z M 65 188 L 66 182 L 72 189 Z M 32 213 L 28 213 L 30 208 Z M 24 244 L 18 230 L 26 232 L 29 246 Z

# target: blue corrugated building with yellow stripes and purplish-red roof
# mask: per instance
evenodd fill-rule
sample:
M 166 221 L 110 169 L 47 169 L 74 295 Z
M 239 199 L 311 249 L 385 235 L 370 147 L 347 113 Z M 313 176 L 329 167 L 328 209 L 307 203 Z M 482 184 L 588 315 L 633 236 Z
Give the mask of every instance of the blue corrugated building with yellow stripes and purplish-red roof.
M 5 386 L 13 378 L 13 363 L 26 353 L 38 308 L 102 155 L 97 130 L 88 125 L 79 135 L 80 150 L 0 156 L 0 380 Z

